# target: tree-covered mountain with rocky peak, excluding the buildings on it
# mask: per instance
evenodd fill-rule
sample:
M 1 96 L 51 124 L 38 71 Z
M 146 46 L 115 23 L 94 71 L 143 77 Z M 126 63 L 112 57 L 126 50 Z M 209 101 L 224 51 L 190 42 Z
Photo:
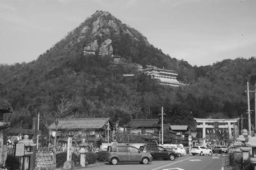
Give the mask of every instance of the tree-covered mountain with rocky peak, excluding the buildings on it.
M 84 47 L 108 38 L 124 65 L 113 65 L 113 57 L 99 51 L 83 55 Z M 138 72 L 136 64 L 175 70 L 179 81 L 189 86 L 161 86 Z M 72 99 L 74 105 L 60 117 L 109 117 L 124 125 L 131 118 L 158 118 L 163 105 L 165 121 L 193 126 L 193 117 L 237 118 L 245 113 L 244 90 L 247 81 L 255 80 L 255 68 L 255 58 L 191 66 L 163 54 L 110 13 L 97 11 L 36 61 L 1 65 L 0 95 L 15 111 L 10 118 L 13 127 L 31 128 L 38 112 L 45 121 L 54 121 L 52 115 L 60 114 L 63 99 Z M 124 73 L 135 76 L 123 77 Z

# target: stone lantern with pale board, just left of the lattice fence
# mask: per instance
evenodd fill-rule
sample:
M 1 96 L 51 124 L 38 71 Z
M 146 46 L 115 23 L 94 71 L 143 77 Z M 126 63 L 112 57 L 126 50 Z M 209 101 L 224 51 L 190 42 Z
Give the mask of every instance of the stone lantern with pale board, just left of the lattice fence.
M 22 155 L 22 169 L 35 169 L 35 158 L 33 157 L 35 156 L 35 146 L 36 144 L 28 139 L 28 135 L 24 135 L 24 139 L 17 143 L 16 151 L 19 150 Z

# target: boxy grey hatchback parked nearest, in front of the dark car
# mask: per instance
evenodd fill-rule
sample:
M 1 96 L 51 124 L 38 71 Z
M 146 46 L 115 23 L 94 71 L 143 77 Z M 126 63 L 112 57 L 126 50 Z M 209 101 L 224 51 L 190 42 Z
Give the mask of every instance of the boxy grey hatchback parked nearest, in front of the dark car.
M 150 153 L 144 153 L 134 146 L 108 146 L 108 162 L 116 165 L 118 162 L 140 162 L 141 164 L 148 164 L 152 162 Z

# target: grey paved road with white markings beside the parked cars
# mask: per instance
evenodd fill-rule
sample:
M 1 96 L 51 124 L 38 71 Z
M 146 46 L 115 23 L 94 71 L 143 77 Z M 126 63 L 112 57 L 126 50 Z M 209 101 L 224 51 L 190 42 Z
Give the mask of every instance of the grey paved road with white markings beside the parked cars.
M 86 170 L 221 170 L 225 164 L 225 157 L 227 156 L 228 154 L 213 154 L 212 156 L 184 155 L 173 161 L 153 160 L 153 162 L 147 165 L 138 163 L 119 163 L 114 166 L 106 163 L 101 166 L 86 167 Z

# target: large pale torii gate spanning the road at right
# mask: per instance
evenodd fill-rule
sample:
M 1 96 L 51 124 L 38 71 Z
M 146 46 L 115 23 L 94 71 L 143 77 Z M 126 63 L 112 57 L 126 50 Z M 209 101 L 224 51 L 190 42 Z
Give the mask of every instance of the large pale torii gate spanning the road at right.
M 206 128 L 227 128 L 229 138 L 232 137 L 232 128 L 234 128 L 234 123 L 237 123 L 239 118 L 235 119 L 200 119 L 194 118 L 196 121 L 196 128 L 203 128 L 203 145 L 205 146 L 205 129 Z M 232 124 L 231 124 L 232 123 Z

